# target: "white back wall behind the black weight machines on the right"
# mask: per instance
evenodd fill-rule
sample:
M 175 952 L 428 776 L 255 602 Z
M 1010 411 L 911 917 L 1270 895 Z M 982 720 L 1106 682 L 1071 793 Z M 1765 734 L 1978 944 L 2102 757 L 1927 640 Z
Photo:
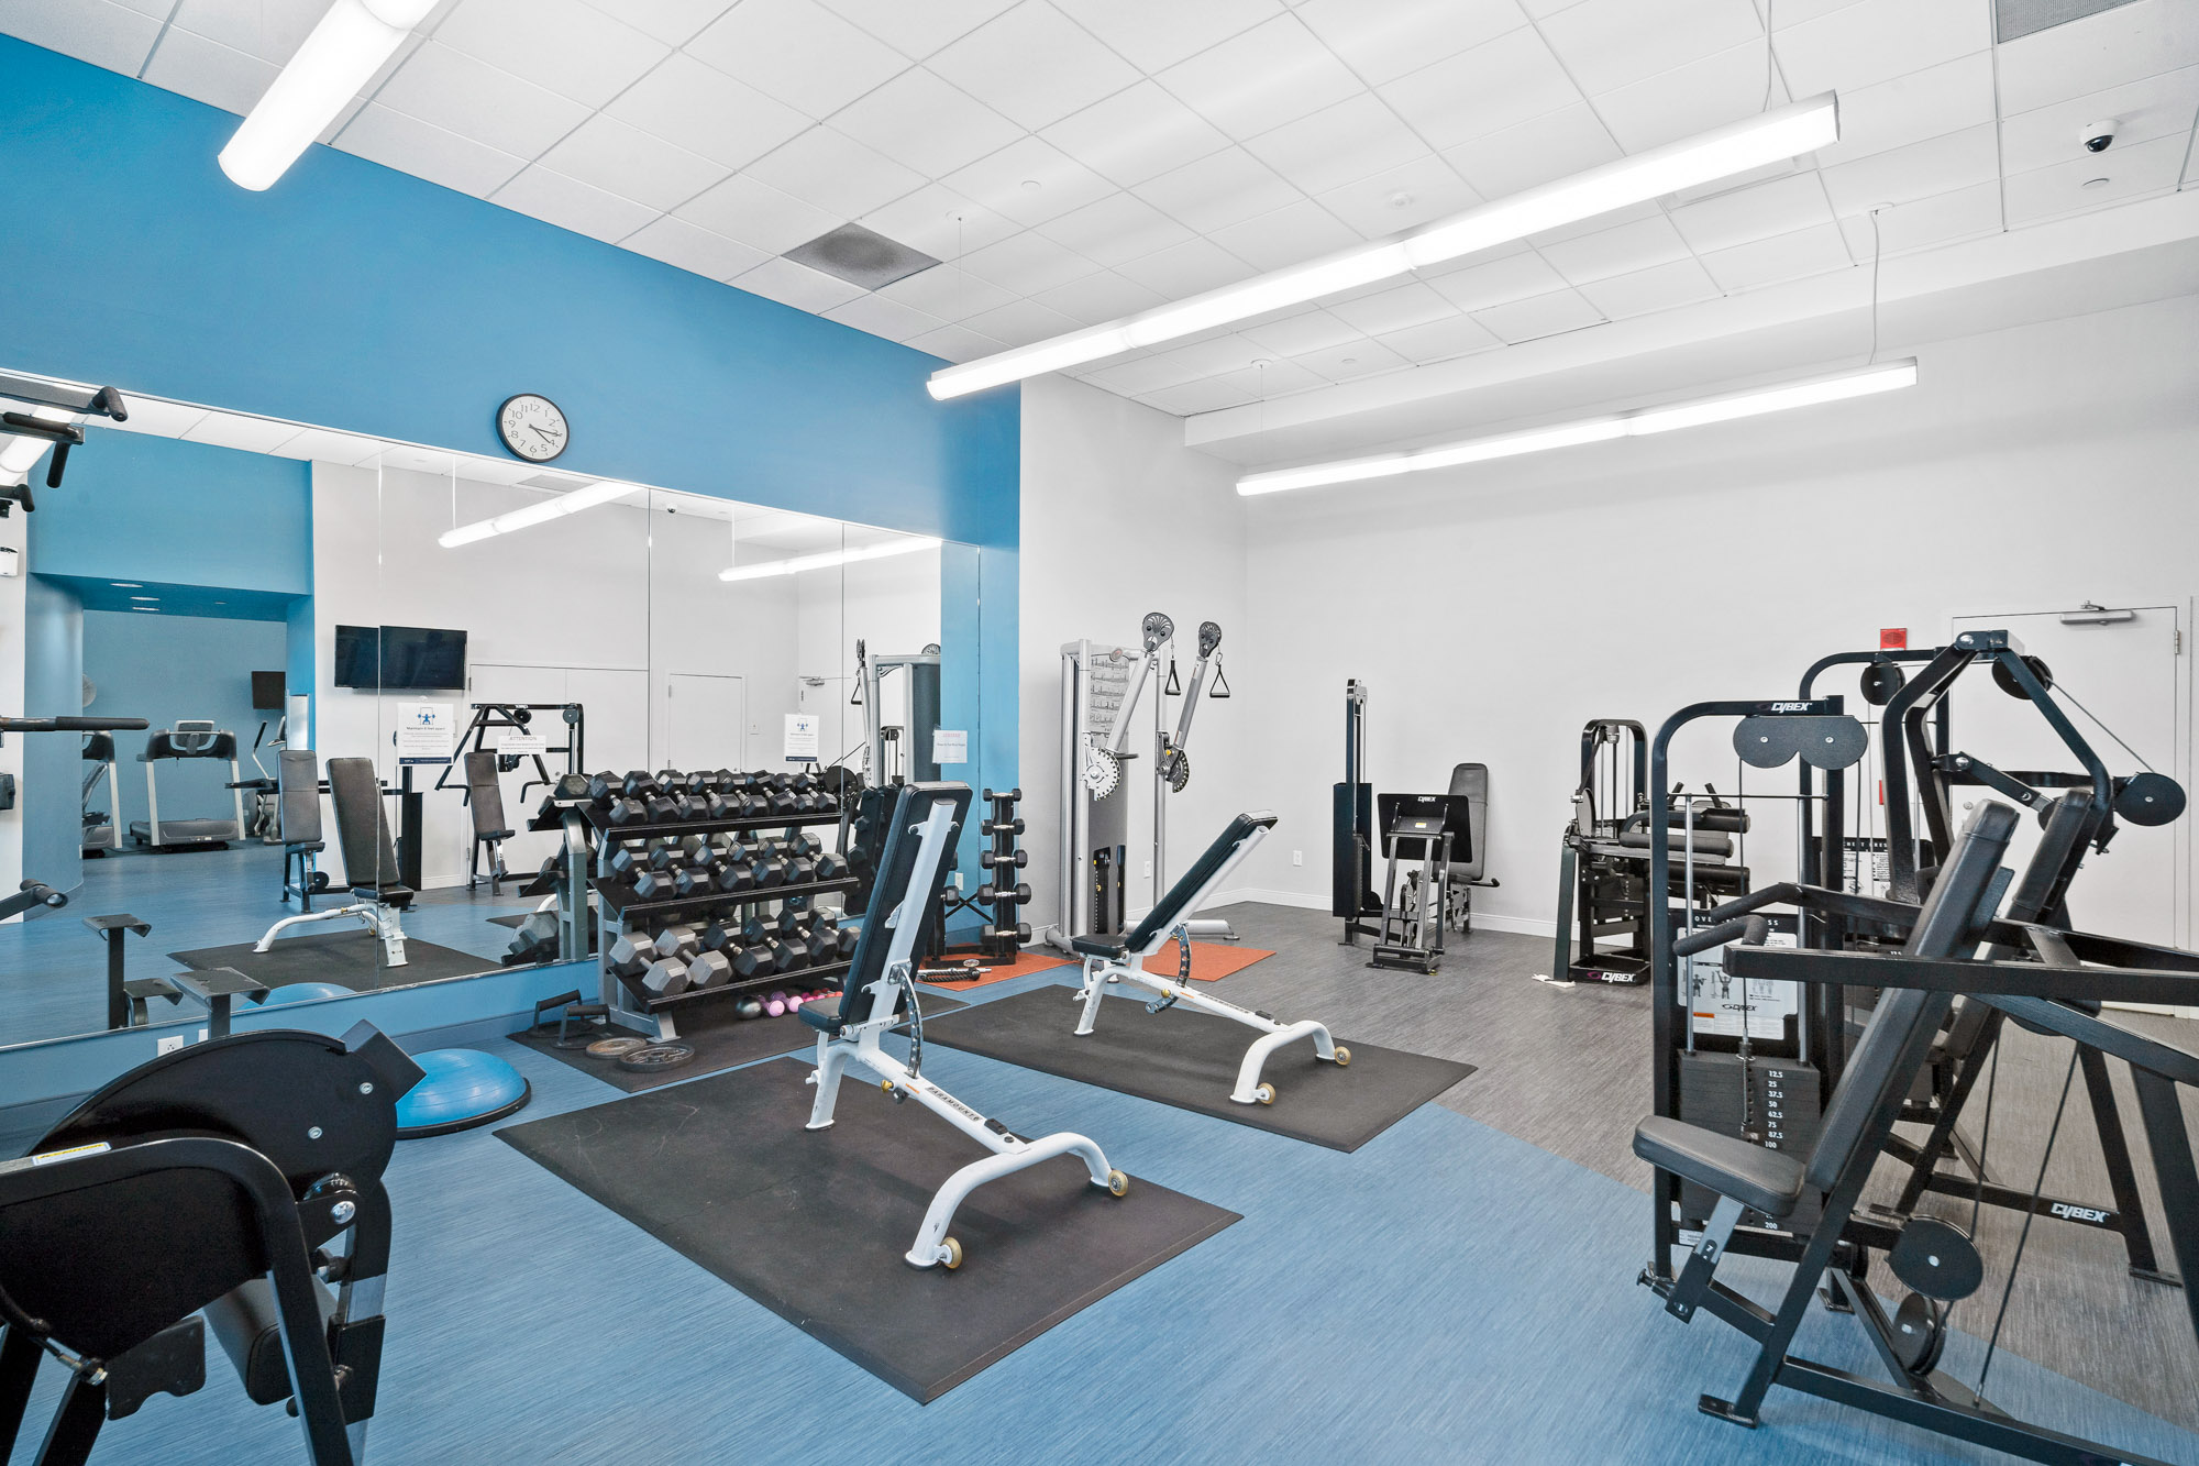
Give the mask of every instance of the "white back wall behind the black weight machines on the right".
M 1792 696 L 1808 663 L 1874 647 L 1878 627 L 1937 645 L 1970 612 L 2098 601 L 2188 616 L 2195 343 L 2199 299 L 2179 297 L 1926 346 L 1920 385 L 1896 396 L 1249 502 L 1247 669 L 1260 674 L 1245 682 L 1278 696 L 1245 742 L 1245 786 L 1282 825 L 1247 885 L 1328 905 L 1346 678 L 1372 685 L 1377 788 L 1440 790 L 1456 762 L 1491 766 L 1489 874 L 1504 885 L 1478 891 L 1476 909 L 1487 925 L 1550 931 L 1588 718 L 1656 729 L 1704 698 Z M 1034 502 L 1049 513 L 1045 500 L 1027 486 L 1027 522 Z M 1091 504 L 1053 511 L 1097 517 Z M 1170 515 L 1227 524 L 1190 495 Z M 1045 594 L 1045 561 L 1027 553 L 1027 566 L 1025 594 Z M 1029 619 L 1027 678 L 1058 621 Z M 2190 786 L 2188 632 L 2184 649 L 2173 773 Z M 1040 704 L 1042 689 L 1027 689 L 1027 729 L 1049 726 Z M 1728 786 L 1728 726 L 1678 748 L 1676 777 Z M 1031 766 L 1031 737 L 1025 748 Z M 1792 788 L 1786 770 L 1775 788 Z M 2186 911 L 2190 823 L 2175 841 Z M 2115 854 L 2087 876 L 2104 878 Z M 1777 841 L 1753 841 L 1750 863 L 1759 880 L 1792 865 Z M 2082 883 L 2071 905 L 2082 916 Z M 2179 936 L 2190 940 L 2188 918 Z

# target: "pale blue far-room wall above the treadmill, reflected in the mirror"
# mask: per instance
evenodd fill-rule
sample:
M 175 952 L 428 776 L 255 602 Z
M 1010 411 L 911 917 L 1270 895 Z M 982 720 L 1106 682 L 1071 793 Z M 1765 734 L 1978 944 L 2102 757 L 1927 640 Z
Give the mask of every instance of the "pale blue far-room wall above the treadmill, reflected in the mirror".
M 46 513 L 44 508 L 40 513 Z M 253 671 L 284 665 L 279 621 L 229 621 L 213 616 L 167 616 L 132 612 L 84 612 L 84 676 L 99 685 L 92 711 L 103 718 L 143 718 L 154 729 L 172 729 L 178 718 L 211 718 L 237 735 L 240 775 L 255 775 L 251 753 L 259 722 L 275 713 L 253 711 Z M 268 729 L 273 733 L 273 726 Z M 117 733 L 121 768 L 121 817 L 145 819 L 145 733 Z M 268 759 L 268 773 L 275 762 Z M 163 762 L 163 819 L 231 819 L 229 764 L 216 759 Z M 128 839 L 128 836 L 125 836 Z

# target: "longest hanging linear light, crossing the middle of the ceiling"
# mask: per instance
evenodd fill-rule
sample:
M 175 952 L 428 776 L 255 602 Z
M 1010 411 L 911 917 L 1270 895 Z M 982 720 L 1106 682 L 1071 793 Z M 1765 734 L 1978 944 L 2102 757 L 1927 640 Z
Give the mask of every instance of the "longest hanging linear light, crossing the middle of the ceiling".
M 1478 209 L 1440 218 L 1418 229 L 1394 233 L 1372 244 L 1355 244 L 1319 260 L 1293 264 L 1253 280 L 1242 280 L 1205 295 L 1192 295 L 1168 306 L 1154 306 L 1073 330 L 1016 350 L 979 357 L 932 372 L 928 385 L 939 401 L 983 392 L 1001 383 L 1023 381 L 1042 372 L 1117 357 L 1141 346 L 1159 346 L 1214 326 L 1242 321 L 1284 306 L 1350 291 L 1377 280 L 1403 275 L 1443 260 L 1471 255 L 1478 249 L 1524 240 L 1544 229 L 1574 225 L 1625 205 L 1660 198 L 1676 189 L 1715 178 L 1731 178 L 1750 167 L 1794 158 L 1841 139 L 1841 103 L 1832 92 L 1794 101 L 1777 112 L 1759 112 L 1746 121 L 1698 132 L 1695 136 L 1651 147 L 1585 174 L 1557 178 Z

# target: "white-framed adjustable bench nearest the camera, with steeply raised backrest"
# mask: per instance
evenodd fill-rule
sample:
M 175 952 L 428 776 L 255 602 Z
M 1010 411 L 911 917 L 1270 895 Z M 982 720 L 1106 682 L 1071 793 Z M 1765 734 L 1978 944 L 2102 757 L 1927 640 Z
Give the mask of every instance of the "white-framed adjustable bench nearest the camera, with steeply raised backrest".
M 1036 1140 L 1009 1134 L 998 1120 L 987 1120 L 952 1094 L 924 1079 L 924 1013 L 917 1006 L 913 951 L 932 918 L 939 896 L 939 867 L 961 834 L 970 812 L 968 784 L 904 784 L 893 790 L 886 841 L 871 887 L 871 913 L 862 922 L 862 940 L 840 984 L 840 1002 L 818 999 L 798 1013 L 818 1030 L 818 1068 L 809 1083 L 818 1087 L 807 1129 L 833 1123 L 833 1101 L 840 1096 L 840 1074 L 849 1065 L 869 1070 L 895 1101 L 915 1098 L 941 1120 L 963 1131 L 990 1156 L 954 1171 L 932 1195 L 917 1228 L 917 1239 L 904 1257 L 910 1266 L 946 1263 L 959 1268 L 961 1244 L 948 1235 L 954 1208 L 985 1182 L 1016 1171 L 1075 1156 L 1091 1173 L 1091 1184 L 1113 1195 L 1130 1191 L 1130 1178 L 1106 1162 L 1106 1153 L 1086 1136 L 1056 1131 Z M 908 1063 L 884 1052 L 877 1041 L 910 1019 Z

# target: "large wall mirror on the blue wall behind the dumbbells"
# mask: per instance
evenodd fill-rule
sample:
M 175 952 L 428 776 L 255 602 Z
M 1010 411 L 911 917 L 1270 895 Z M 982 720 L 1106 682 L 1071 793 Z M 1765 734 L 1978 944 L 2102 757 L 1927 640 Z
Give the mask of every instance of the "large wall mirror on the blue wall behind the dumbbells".
M 972 546 L 130 405 L 24 526 L 20 713 L 145 726 L 9 735 L 22 876 L 66 905 L 0 925 L 0 1046 L 202 1030 L 222 982 L 240 1026 L 559 960 L 594 997 L 620 925 L 559 907 L 574 777 L 985 784 Z M 844 858 L 847 823 L 798 828 Z

